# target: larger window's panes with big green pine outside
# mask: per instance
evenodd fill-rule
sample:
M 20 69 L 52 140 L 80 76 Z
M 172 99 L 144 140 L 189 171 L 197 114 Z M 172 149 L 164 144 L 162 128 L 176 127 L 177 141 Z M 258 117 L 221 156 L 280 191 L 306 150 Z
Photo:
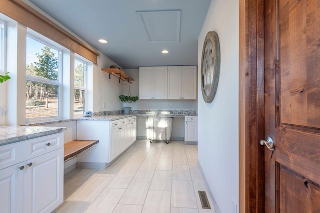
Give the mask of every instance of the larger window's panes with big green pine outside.
M 60 51 L 26 37 L 25 117 L 59 116 Z

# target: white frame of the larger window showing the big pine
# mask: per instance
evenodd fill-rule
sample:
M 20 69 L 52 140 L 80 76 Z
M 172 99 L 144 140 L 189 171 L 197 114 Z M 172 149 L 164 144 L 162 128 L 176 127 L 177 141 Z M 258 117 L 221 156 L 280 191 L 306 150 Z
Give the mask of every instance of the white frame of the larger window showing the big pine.
M 37 120 L 56 120 L 56 119 L 61 119 L 62 118 L 62 95 L 63 95 L 63 84 L 62 84 L 62 74 L 63 74 L 63 70 L 62 70 L 62 52 L 64 50 L 64 48 L 55 43 L 54 41 L 49 40 L 48 38 L 46 38 L 43 35 L 38 34 L 37 32 L 34 32 L 33 30 L 27 30 L 26 33 L 26 37 L 29 37 L 45 46 L 48 46 L 54 50 L 56 50 L 57 53 L 57 57 L 58 57 L 58 79 L 57 81 L 55 80 L 50 80 L 50 79 L 45 79 L 45 78 L 41 78 L 41 77 L 37 77 L 37 76 L 32 76 L 32 75 L 27 75 L 25 73 L 25 82 L 27 81 L 32 81 L 32 82 L 36 82 L 36 83 L 44 83 L 44 84 L 49 84 L 49 85 L 54 85 L 54 86 L 58 86 L 58 114 L 54 115 L 54 116 L 40 116 L 40 117 L 31 117 L 31 118 L 27 118 L 25 117 L 25 122 L 26 123 L 30 123 L 33 121 L 37 121 Z M 25 38 L 26 39 L 26 38 Z M 62 47 L 62 48 L 61 48 Z M 25 55 L 26 57 L 26 55 Z M 25 109 L 25 107 L 24 107 Z

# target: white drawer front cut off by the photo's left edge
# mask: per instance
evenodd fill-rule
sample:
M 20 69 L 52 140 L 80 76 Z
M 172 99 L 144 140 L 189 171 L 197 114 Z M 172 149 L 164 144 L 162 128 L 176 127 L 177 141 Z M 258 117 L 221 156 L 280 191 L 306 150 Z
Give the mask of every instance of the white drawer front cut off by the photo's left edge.
M 23 161 L 22 142 L 0 146 L 0 170 Z

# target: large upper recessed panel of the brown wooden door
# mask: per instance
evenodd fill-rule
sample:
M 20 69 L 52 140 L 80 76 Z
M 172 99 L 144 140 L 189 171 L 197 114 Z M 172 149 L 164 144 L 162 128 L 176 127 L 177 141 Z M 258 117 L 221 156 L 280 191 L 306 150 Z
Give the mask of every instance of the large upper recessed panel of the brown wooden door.
M 279 0 L 280 121 L 320 128 L 320 6 Z

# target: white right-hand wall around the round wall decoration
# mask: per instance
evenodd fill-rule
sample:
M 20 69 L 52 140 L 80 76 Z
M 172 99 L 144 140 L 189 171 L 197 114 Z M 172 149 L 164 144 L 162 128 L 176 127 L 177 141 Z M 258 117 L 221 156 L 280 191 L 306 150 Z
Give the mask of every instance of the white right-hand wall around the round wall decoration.
M 212 0 L 198 39 L 198 160 L 222 213 L 232 212 L 232 200 L 238 206 L 238 7 L 238 0 Z M 220 42 L 220 75 L 214 100 L 205 103 L 200 64 L 212 30 Z

